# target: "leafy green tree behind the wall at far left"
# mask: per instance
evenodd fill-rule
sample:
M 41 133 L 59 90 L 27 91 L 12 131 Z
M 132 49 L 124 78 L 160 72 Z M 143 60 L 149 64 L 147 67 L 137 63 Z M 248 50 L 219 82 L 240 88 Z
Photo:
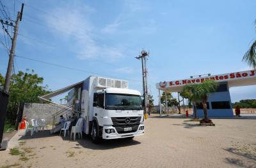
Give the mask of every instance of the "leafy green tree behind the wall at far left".
M 34 71 L 19 71 L 12 74 L 9 90 L 9 102 L 7 108 L 7 120 L 15 123 L 19 102 L 40 102 L 38 96 L 48 94 L 47 85 L 42 85 L 44 78 L 34 74 Z M 4 85 L 4 78 L 0 74 L 0 83 Z

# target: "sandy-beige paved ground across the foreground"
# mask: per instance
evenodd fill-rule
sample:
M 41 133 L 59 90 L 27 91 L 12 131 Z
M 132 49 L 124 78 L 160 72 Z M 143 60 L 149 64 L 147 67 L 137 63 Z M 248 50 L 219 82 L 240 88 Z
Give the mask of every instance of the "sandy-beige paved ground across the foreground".
M 202 127 L 184 118 L 150 117 L 144 136 L 102 144 L 47 131 L 23 138 L 19 131 L 19 141 L 10 143 L 20 153 L 0 151 L 0 167 L 256 167 L 256 120 L 213 122 Z

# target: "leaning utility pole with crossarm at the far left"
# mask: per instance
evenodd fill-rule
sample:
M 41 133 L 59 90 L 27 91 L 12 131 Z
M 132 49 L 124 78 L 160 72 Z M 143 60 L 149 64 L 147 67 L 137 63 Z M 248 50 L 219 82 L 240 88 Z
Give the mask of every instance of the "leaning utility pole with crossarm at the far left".
M 14 34 L 12 38 L 12 48 L 10 50 L 10 57 L 9 57 L 9 62 L 8 62 L 8 67 L 7 67 L 5 82 L 4 82 L 4 92 L 6 93 L 9 92 L 9 88 L 10 88 L 10 78 L 12 76 L 12 69 L 13 69 L 13 58 L 15 55 L 16 40 L 17 40 L 17 34 L 19 30 L 19 22 L 22 20 L 23 7 L 24 7 L 24 3 L 22 3 L 21 11 L 18 11 L 17 13 L 17 19 L 15 21 L 15 25 L 8 24 L 8 22 L 3 22 L 3 20 L 1 20 L 3 24 L 11 25 L 12 27 L 14 27 Z

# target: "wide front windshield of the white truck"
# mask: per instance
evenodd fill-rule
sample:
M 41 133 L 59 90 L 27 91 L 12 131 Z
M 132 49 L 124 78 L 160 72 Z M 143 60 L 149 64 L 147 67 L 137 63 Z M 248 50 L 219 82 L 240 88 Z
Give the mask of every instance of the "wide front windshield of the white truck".
M 106 109 L 142 109 L 140 95 L 106 94 Z

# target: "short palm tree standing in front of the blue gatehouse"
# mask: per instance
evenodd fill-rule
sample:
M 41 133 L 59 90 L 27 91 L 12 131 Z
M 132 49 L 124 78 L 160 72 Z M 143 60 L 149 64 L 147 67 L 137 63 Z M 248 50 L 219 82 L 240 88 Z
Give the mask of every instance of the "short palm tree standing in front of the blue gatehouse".
M 207 99 L 211 92 L 215 92 L 218 87 L 218 83 L 214 80 L 205 80 L 200 84 L 186 85 L 184 90 L 188 90 L 191 93 L 191 99 L 193 102 L 202 102 L 204 108 L 204 119 L 200 122 L 212 123 L 208 118 L 207 113 Z M 195 106 L 195 104 L 194 104 Z

